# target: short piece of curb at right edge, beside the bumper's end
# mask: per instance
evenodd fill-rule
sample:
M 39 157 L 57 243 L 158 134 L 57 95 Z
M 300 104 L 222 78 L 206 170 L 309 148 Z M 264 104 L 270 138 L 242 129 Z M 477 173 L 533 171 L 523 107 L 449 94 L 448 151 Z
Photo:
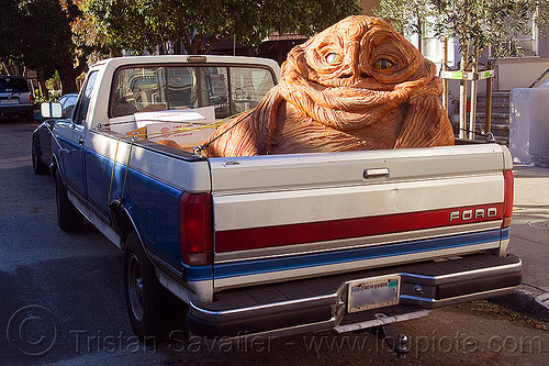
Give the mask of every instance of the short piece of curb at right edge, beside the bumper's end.
M 536 287 L 520 284 L 518 292 L 494 298 L 491 301 L 529 317 L 549 321 L 549 292 Z

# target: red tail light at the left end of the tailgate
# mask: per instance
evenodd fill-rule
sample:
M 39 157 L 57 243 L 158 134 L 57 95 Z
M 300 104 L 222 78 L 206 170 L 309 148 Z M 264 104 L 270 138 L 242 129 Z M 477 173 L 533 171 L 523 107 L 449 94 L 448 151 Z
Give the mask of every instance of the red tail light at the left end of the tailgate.
M 212 264 L 212 197 L 209 193 L 183 192 L 179 199 L 179 234 L 186 264 Z

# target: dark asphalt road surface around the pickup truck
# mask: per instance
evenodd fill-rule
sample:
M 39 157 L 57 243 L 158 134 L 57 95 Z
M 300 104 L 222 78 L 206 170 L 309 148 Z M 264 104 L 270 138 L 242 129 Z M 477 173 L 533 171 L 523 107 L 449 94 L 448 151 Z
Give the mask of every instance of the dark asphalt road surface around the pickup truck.
M 54 181 L 32 171 L 36 124 L 0 121 L 0 365 L 545 365 L 549 323 L 472 302 L 400 323 L 404 359 L 371 333 L 333 332 L 217 348 L 178 331 L 137 342 L 122 253 L 91 224 L 57 228 Z

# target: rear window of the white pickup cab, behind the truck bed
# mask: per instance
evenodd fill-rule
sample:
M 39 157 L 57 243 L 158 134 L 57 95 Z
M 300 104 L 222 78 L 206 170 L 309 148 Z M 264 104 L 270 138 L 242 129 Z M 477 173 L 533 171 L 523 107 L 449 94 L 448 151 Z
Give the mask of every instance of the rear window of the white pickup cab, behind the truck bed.
M 114 76 L 109 117 L 213 106 L 221 119 L 255 108 L 273 86 L 274 75 L 262 67 L 124 67 Z

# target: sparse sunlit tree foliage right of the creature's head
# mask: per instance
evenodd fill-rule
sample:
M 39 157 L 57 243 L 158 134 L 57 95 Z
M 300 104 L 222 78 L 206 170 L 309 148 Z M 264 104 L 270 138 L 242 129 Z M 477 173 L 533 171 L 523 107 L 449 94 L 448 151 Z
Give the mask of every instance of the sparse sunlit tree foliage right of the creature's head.
M 531 20 L 547 29 L 549 0 L 381 0 L 376 14 L 404 32 L 430 30 L 439 38 L 458 40 L 464 70 L 488 47 L 496 58 L 515 53 L 515 35 L 531 33 Z

